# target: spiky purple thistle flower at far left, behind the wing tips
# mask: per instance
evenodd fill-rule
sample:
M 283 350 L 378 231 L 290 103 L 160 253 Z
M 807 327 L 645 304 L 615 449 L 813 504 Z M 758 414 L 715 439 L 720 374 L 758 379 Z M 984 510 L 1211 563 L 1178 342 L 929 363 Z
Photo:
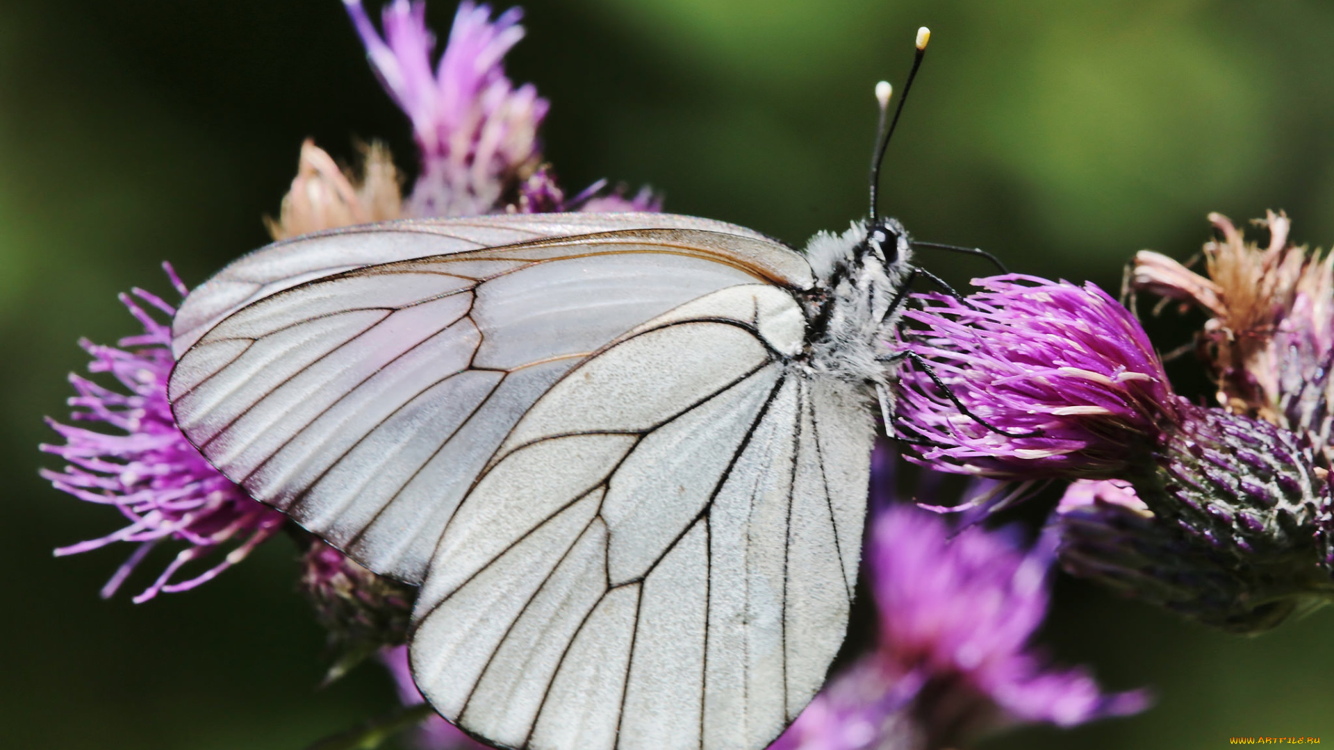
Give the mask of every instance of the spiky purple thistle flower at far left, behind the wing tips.
M 172 286 L 185 296 L 188 290 L 175 271 L 168 264 L 163 266 Z M 172 306 L 143 290 L 133 290 L 133 296 L 164 315 L 176 312 Z M 81 500 L 115 506 L 129 520 L 124 528 L 100 539 L 56 550 L 56 555 L 72 555 L 113 542 L 137 544 L 101 589 L 104 598 L 113 595 L 159 543 L 167 539 L 185 543 L 161 575 L 133 598 L 139 603 L 160 591 L 185 591 L 211 581 L 272 536 L 285 516 L 249 498 L 213 468 L 180 432 L 167 400 L 167 379 L 173 364 L 171 326 L 156 320 L 129 295 L 120 295 L 120 300 L 143 324 L 144 332 L 121 339 L 117 347 L 88 340 L 80 342 L 80 346 L 93 358 L 88 370 L 109 372 L 128 394 L 71 374 L 69 382 L 79 395 L 69 399 L 69 406 L 75 408 L 71 419 L 100 422 L 124 434 L 99 432 L 48 419 L 47 423 L 65 439 L 65 444 L 44 444 L 41 450 L 64 458 L 69 464 L 59 472 L 43 470 L 41 475 L 57 490 Z M 225 556 L 204 573 L 173 581 L 187 563 L 228 544 L 232 547 Z

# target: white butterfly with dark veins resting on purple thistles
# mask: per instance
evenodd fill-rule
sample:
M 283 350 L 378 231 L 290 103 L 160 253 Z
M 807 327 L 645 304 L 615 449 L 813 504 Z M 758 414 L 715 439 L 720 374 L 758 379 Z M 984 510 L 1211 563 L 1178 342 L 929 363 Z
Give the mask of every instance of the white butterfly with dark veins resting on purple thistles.
M 414 679 L 472 735 L 759 749 L 843 642 L 912 247 L 874 214 L 804 254 L 668 214 L 308 235 L 191 292 L 169 398 L 420 586 Z

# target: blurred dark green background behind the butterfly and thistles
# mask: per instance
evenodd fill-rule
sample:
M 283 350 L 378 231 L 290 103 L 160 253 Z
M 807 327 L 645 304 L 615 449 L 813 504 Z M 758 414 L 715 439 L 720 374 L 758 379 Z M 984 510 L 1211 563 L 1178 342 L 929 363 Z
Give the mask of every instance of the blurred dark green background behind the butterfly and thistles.
M 931 53 L 894 143 L 883 206 L 918 236 L 1018 270 L 1115 288 L 1145 247 L 1186 258 L 1207 211 L 1286 208 L 1334 238 L 1334 5 L 1318 1 L 551 0 L 527 4 L 516 81 L 552 101 L 567 187 L 650 183 L 672 211 L 800 243 L 864 214 L 871 87 Z M 442 33 L 454 5 L 432 0 Z M 321 633 L 291 544 L 188 594 L 135 606 L 97 589 L 128 554 L 52 559 L 119 516 L 36 476 L 64 415 L 77 336 L 135 326 L 116 292 L 191 284 L 265 242 L 303 137 L 335 156 L 407 121 L 338 0 L 0 3 L 0 745 L 281 749 L 387 710 L 363 669 L 316 690 Z M 927 259 L 966 282 L 972 268 Z M 1187 328 L 1153 326 L 1163 350 Z M 1189 380 L 1189 368 L 1178 367 Z M 1190 384 L 1193 383 L 1193 384 Z M 149 562 L 149 567 L 160 565 Z M 143 577 L 131 581 L 147 582 Z M 1062 579 L 1045 634 L 1113 687 L 1154 686 L 1133 719 L 1026 729 L 1000 749 L 1211 749 L 1230 735 L 1334 742 L 1334 613 L 1246 639 Z

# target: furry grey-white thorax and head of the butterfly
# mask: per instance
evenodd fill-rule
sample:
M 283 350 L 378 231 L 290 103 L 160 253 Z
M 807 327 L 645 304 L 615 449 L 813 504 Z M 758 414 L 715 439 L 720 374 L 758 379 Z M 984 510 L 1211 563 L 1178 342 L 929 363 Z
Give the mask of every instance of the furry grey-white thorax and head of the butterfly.
M 903 226 L 884 219 L 875 227 L 854 222 L 842 235 L 819 232 L 806 246 L 806 260 L 816 279 L 807 315 L 819 322 L 811 338 L 811 368 L 842 380 L 888 386 L 894 367 L 876 358 L 894 352 L 902 302 L 892 314 L 887 311 L 912 270 Z

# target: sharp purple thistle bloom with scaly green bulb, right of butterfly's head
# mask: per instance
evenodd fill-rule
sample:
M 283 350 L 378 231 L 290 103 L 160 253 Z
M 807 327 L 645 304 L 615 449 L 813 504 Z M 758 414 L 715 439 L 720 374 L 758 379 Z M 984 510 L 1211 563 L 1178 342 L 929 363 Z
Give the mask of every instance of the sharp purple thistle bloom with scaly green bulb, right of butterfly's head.
M 1209 585 L 1185 603 L 1153 586 L 1142 595 L 1211 625 L 1254 631 L 1334 594 L 1318 535 L 1329 486 L 1309 440 L 1174 395 L 1143 328 L 1091 284 L 980 284 L 968 303 L 927 296 L 926 310 L 907 314 L 924 330 L 907 334 L 906 346 L 1007 434 L 968 419 L 927 372 L 908 367 L 900 430 L 928 443 L 919 460 L 1007 479 L 1123 479 L 1153 516 L 1142 540 L 1157 562 L 1105 562 L 1169 582 L 1190 569 Z M 1094 511 L 1071 527 L 1081 540 L 1067 548 L 1098 535 L 1125 539 L 1118 523 L 1138 523 L 1122 508 Z M 1106 528 L 1090 530 L 1095 520 Z

